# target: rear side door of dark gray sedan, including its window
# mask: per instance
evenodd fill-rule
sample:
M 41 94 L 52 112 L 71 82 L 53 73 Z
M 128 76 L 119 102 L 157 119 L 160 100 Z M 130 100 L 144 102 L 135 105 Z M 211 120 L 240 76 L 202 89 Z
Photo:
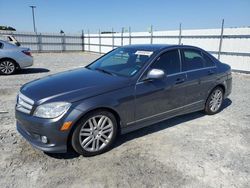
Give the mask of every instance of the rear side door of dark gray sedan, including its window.
M 216 67 L 198 49 L 184 48 L 181 54 L 182 68 L 187 73 L 186 103 L 203 105 L 209 88 L 214 84 Z

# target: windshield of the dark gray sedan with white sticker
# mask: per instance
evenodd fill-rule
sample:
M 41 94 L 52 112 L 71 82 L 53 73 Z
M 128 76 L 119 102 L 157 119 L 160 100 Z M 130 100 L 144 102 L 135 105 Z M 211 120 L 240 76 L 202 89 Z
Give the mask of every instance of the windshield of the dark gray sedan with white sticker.
M 144 66 L 152 54 L 152 51 L 117 48 L 87 66 L 87 68 L 104 73 L 131 77 Z

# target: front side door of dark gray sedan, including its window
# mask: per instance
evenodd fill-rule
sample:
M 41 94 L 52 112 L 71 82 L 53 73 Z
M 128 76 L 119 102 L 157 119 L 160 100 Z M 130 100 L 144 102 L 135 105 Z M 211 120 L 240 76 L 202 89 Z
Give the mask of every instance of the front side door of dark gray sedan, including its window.
M 180 52 L 178 49 L 166 51 L 145 71 L 161 69 L 165 77 L 136 84 L 136 122 L 153 123 L 165 119 L 168 112 L 184 104 L 186 74 L 181 72 Z

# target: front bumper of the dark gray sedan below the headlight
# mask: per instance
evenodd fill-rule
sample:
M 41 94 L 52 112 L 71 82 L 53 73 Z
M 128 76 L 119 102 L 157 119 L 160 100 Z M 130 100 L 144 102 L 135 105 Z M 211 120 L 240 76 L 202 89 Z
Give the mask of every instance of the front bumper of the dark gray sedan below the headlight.
M 70 129 L 61 131 L 60 128 L 67 121 L 72 121 L 74 124 L 80 114 L 80 111 L 74 109 L 61 119 L 42 119 L 16 110 L 16 127 L 17 131 L 35 148 L 50 153 L 65 153 Z M 42 142 L 42 136 L 48 138 L 47 143 Z

